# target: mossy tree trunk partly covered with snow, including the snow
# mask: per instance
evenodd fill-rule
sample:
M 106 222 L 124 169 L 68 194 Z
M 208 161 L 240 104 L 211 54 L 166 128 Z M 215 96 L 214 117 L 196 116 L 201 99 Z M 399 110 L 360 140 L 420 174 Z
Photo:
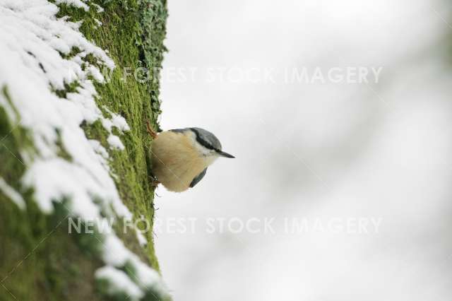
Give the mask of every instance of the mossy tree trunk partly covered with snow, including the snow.
M 165 0 L 0 0 L 0 300 L 169 300 L 145 130 L 159 81 L 143 77 L 166 18 Z

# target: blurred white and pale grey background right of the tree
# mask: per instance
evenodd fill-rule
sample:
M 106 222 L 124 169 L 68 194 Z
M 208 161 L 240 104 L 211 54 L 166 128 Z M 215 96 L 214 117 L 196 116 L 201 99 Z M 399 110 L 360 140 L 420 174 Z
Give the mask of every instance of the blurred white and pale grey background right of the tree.
M 237 157 L 188 192 L 157 190 L 174 300 L 452 300 L 451 7 L 169 0 L 162 128 L 203 127 Z M 379 82 L 284 78 L 355 66 L 382 67 Z M 194 233 L 165 227 L 183 218 L 197 219 Z M 207 218 L 274 218 L 275 232 L 211 234 Z M 285 218 L 381 223 L 288 233 Z

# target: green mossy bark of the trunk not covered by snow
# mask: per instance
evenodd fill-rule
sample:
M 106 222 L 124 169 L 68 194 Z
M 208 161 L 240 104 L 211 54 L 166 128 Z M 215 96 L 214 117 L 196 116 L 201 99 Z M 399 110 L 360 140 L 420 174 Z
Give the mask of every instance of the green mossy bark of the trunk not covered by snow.
M 91 4 L 101 6 L 102 13 Z M 152 76 L 147 81 L 137 81 L 133 73 L 137 69 L 160 69 L 165 52 L 166 1 L 97 0 L 90 1 L 89 11 L 67 4 L 58 6 L 58 17 L 83 20 L 81 33 L 107 49 L 116 64 L 111 73 L 105 74 L 107 83 L 95 84 L 97 106 L 120 114 L 130 126 L 130 131 L 121 134 L 124 151 L 109 150 L 109 167 L 116 175 L 121 200 L 135 218 L 144 217 L 152 225 L 154 190 L 149 177 L 150 137 L 145 121 L 158 129 L 159 82 Z M 131 76 L 125 77 L 125 72 Z M 8 88 L 0 88 L 8 99 Z M 66 88 L 55 93 L 64 96 L 75 87 Z M 13 105 L 13 100 L 9 101 Z M 96 269 L 103 265 L 97 256 L 95 234 L 69 235 L 64 205 L 55 203 L 54 213 L 46 215 L 33 200 L 33 191 L 24 191 L 20 181 L 26 167 L 20 154 L 32 145 L 27 131 L 13 126 L 9 116 L 0 106 L 0 177 L 20 192 L 25 208 L 19 208 L 0 190 L 0 300 L 126 300 L 126 295 L 105 295 L 102 283 L 95 280 Z M 100 122 L 82 127 L 88 138 L 107 146 L 108 133 Z M 71 160 L 64 149 L 61 158 Z M 136 235 L 119 237 L 142 261 L 159 271 L 152 229 L 145 233 L 145 247 L 138 244 Z M 150 293 L 144 299 L 158 297 Z

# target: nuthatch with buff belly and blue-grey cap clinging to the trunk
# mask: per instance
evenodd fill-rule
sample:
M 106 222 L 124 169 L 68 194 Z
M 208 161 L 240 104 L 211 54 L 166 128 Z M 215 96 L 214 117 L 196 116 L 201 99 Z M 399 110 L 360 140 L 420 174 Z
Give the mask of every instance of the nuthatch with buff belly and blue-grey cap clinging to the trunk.
M 181 192 L 194 187 L 206 175 L 207 167 L 218 157 L 234 158 L 221 151 L 221 143 L 214 134 L 198 127 L 170 129 L 156 134 L 151 147 L 153 175 L 169 191 Z

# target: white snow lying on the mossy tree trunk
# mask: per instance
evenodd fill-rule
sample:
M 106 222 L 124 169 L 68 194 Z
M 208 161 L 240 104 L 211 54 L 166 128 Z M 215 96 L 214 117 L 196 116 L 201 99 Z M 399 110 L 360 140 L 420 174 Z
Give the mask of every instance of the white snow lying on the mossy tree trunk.
M 59 1 L 85 8 L 89 1 Z M 96 6 L 97 7 L 97 6 Z M 82 122 L 100 120 L 110 136 L 110 148 L 124 149 L 112 128 L 128 131 L 124 118 L 109 112 L 102 115 L 95 103 L 96 90 L 88 76 L 104 81 L 99 69 L 84 61 L 91 54 L 97 64 L 114 68 L 107 53 L 88 41 L 79 24 L 66 18 L 57 18 L 59 8 L 47 0 L 0 0 L 0 88 L 6 87 L 11 102 L 0 93 L 0 106 L 4 107 L 12 126 L 27 129 L 32 136 L 35 151 L 21 150 L 27 171 L 24 187 L 32 187 L 34 199 L 44 213 L 52 213 L 52 201 L 69 197 L 68 209 L 72 216 L 84 219 L 101 218 L 100 211 L 113 208 L 110 216 L 131 218 L 122 203 L 107 166 L 108 153 L 100 143 L 88 140 Z M 64 59 L 74 47 L 80 49 L 75 56 Z M 82 68 L 82 65 L 85 65 Z M 77 81 L 76 93 L 59 98 L 54 90 L 64 90 L 65 83 Z M 16 114 L 16 112 L 18 114 Z M 72 160 L 57 155 L 57 141 Z M 4 183 L 2 187 L 8 187 Z M 102 200 L 97 204 L 93 199 Z M 108 212 L 108 211 L 107 211 Z M 108 234 L 109 233 L 109 234 Z M 103 259 L 109 268 L 99 272 L 102 278 L 111 276 L 112 283 L 123 279 L 113 266 L 131 262 L 138 273 L 143 292 L 148 287 L 162 288 L 160 276 L 127 249 L 113 231 L 107 231 Z M 119 276 L 121 275 L 121 276 Z M 131 279 L 136 282 L 136 279 Z M 142 293 L 134 292 L 131 300 Z

